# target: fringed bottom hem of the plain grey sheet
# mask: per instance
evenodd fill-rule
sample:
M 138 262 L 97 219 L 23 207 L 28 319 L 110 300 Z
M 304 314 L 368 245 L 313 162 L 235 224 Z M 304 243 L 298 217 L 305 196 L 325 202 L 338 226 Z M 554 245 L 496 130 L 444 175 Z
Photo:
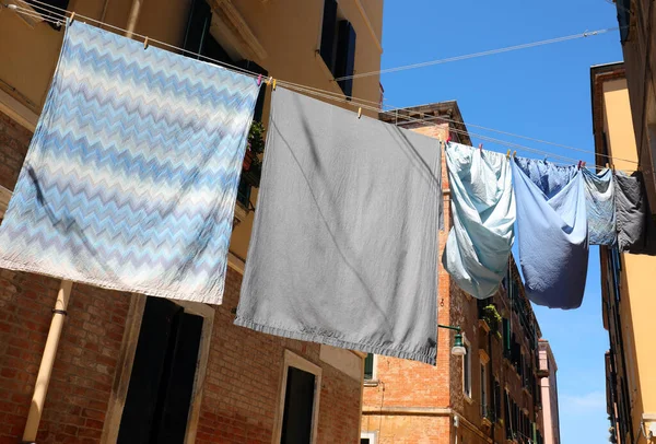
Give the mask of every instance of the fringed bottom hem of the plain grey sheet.
M 364 351 L 367 353 L 384 354 L 387 357 L 401 358 L 401 359 L 410 359 L 413 361 L 419 361 L 419 362 L 423 362 L 425 364 L 431 364 L 431 365 L 436 364 L 437 350 L 435 350 L 435 353 L 432 354 L 432 353 L 410 352 L 410 351 L 393 349 L 393 348 L 388 348 L 388 347 L 384 347 L 384 346 L 371 346 L 371 344 L 360 343 L 360 342 L 349 342 L 349 341 L 344 341 L 342 339 L 330 338 L 330 337 L 323 336 L 323 335 L 304 334 L 304 332 L 300 332 L 300 331 L 291 331 L 291 330 L 285 330 L 283 328 L 271 327 L 268 325 L 258 324 L 250 319 L 245 319 L 238 315 L 235 317 L 234 324 L 237 326 L 250 328 L 251 330 L 263 332 L 267 335 L 274 335 L 274 336 L 280 336 L 283 338 L 297 339 L 297 340 L 302 340 L 302 341 L 325 343 L 326 346 L 333 346 L 333 347 L 339 347 L 342 349 Z

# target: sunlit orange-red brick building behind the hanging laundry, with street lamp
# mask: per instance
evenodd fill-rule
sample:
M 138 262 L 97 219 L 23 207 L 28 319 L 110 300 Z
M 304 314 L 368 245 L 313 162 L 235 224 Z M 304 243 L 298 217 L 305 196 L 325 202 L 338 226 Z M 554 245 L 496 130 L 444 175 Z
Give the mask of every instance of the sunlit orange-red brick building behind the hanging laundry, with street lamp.
M 382 118 L 436 139 L 450 136 L 471 144 L 455 102 L 400 109 Z M 402 124 L 417 118 L 435 125 Z M 447 230 L 440 234 L 440 257 L 450 226 L 445 161 L 442 179 Z M 441 328 L 435 366 L 374 357 L 373 366 L 365 370 L 362 436 L 367 444 L 541 442 L 540 329 L 514 262 L 511 270 L 499 293 L 479 302 L 458 289 L 440 265 L 438 322 L 462 328 L 468 354 L 452 355 L 454 331 Z

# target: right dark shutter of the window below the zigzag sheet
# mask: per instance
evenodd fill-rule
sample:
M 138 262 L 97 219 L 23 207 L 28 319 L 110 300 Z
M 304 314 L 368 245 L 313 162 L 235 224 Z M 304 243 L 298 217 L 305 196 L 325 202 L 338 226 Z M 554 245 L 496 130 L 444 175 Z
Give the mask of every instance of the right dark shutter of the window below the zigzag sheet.
M 165 369 L 166 386 L 161 387 L 152 442 L 183 443 L 194 394 L 196 366 L 202 335 L 201 316 L 178 313 L 175 337 L 169 342 Z

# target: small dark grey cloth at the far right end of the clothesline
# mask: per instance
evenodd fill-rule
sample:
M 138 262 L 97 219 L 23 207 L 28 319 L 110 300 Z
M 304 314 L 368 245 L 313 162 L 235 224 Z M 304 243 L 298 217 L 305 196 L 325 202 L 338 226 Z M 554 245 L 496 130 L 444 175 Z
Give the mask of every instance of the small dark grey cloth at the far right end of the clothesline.
M 641 172 L 618 171 L 614 180 L 620 253 L 656 255 L 656 227 L 651 218 Z

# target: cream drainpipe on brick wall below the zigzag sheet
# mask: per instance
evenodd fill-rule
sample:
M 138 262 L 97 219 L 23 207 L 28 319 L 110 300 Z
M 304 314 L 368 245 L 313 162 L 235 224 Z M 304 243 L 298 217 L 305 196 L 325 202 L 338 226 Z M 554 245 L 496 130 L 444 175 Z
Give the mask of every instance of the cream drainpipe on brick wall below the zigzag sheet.
M 27 413 L 27 423 L 23 432 L 23 444 L 36 441 L 36 433 L 38 432 L 38 424 L 44 411 L 46 393 L 48 392 L 48 384 L 52 374 L 52 364 L 55 363 L 55 355 L 57 354 L 57 347 L 59 346 L 59 338 L 61 337 L 61 328 L 67 315 L 66 308 L 68 307 L 72 287 L 73 283 L 71 281 L 61 281 L 59 285 L 55 309 L 52 309 L 52 322 L 50 323 L 46 348 L 44 349 L 42 363 L 38 367 L 38 375 L 34 385 L 34 395 L 32 395 L 32 405 L 30 406 L 30 413 Z

